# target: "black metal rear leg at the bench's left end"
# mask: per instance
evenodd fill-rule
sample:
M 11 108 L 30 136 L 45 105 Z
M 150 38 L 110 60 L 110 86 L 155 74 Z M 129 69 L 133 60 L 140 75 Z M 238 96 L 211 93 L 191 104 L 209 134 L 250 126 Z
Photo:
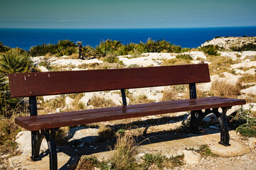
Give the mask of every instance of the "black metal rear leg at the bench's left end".
M 39 130 L 31 131 L 31 147 L 32 147 L 32 157 L 33 161 L 41 160 L 39 157 L 40 147 L 43 140 L 43 135 L 40 134 Z

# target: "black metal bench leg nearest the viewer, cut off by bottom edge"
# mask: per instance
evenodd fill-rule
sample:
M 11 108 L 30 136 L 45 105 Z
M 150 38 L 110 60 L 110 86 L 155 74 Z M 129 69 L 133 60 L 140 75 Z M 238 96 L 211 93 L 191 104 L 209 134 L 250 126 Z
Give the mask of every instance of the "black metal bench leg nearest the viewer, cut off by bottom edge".
M 58 129 L 43 130 L 46 136 L 49 152 L 50 152 L 50 170 L 58 170 L 57 149 L 55 143 L 55 134 Z

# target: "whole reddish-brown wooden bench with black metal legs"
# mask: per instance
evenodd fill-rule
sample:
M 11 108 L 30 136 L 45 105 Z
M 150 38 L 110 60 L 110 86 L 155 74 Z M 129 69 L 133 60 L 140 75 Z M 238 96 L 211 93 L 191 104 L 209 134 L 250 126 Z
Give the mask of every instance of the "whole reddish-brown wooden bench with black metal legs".
M 201 120 L 214 113 L 221 126 L 219 143 L 228 146 L 230 138 L 225 114 L 232 106 L 245 104 L 245 100 L 223 97 L 197 98 L 196 83 L 209 81 L 208 64 L 9 74 L 11 97 L 29 97 L 30 103 L 31 115 L 16 118 L 15 123 L 31 131 L 31 159 L 34 161 L 41 159 L 41 141 L 46 137 L 50 152 L 50 169 L 58 169 L 55 145 L 55 131 L 58 128 L 146 115 L 191 111 L 191 132 L 195 133 L 198 132 Z M 175 84 L 189 84 L 190 99 L 127 106 L 124 89 Z M 123 106 L 37 115 L 36 96 L 117 89 L 121 90 Z M 223 112 L 219 113 L 218 108 L 222 108 Z M 203 109 L 205 111 L 202 111 Z

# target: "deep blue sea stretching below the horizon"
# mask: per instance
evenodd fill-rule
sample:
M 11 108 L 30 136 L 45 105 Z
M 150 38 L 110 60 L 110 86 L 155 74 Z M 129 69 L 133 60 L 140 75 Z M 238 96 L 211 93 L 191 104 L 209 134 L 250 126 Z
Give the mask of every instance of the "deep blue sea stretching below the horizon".
M 0 28 L 0 41 L 9 47 L 24 50 L 43 43 L 58 43 L 58 40 L 82 40 L 82 45 L 95 47 L 102 40 L 121 40 L 129 42 L 146 42 L 166 40 L 181 47 L 198 47 L 206 40 L 216 36 L 256 36 L 256 27 L 233 28 L 154 28 L 154 29 L 23 29 Z

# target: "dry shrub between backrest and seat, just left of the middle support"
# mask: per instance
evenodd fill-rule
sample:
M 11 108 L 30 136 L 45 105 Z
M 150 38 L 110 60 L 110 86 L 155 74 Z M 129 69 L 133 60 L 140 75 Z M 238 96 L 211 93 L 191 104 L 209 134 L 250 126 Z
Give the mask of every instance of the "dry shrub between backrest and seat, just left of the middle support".
M 109 108 L 117 106 L 112 100 L 105 99 L 100 96 L 93 96 L 90 101 L 90 105 L 92 105 L 94 108 Z

